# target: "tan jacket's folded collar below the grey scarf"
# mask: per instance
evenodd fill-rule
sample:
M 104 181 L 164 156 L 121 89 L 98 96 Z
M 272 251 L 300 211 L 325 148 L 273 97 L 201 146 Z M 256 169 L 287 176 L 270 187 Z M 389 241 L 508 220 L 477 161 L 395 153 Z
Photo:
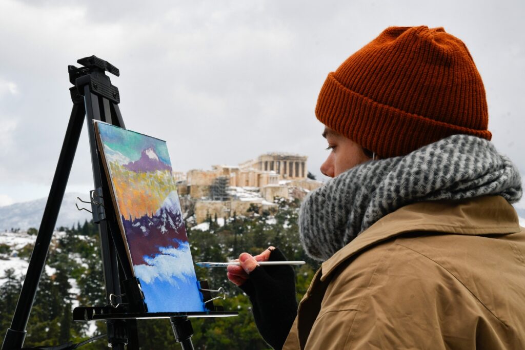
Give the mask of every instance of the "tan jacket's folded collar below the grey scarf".
M 410 204 L 384 216 L 324 261 L 321 280 L 324 281 L 340 263 L 362 250 L 407 232 L 505 235 L 520 230 L 516 210 L 501 196 Z

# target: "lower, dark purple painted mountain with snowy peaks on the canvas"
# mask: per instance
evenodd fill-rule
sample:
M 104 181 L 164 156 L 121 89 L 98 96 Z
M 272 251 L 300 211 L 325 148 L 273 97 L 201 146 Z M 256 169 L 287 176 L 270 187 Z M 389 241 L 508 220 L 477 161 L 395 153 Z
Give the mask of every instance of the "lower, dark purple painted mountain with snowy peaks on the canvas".
M 176 191 L 166 197 L 155 214 L 134 220 L 122 217 L 122 224 L 134 265 L 146 264 L 144 256 L 154 257 L 159 247 L 178 248 L 177 241 L 188 240 Z

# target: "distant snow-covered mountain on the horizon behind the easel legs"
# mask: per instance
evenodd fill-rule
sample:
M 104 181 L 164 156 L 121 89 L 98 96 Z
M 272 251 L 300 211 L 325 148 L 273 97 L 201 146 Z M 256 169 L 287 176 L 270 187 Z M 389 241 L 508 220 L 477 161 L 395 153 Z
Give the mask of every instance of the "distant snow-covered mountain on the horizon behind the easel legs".
M 92 215 L 86 210 L 79 211 L 75 206 L 77 197 L 83 200 L 89 200 L 89 193 L 66 193 L 60 212 L 58 214 L 57 224 L 55 227 L 71 227 L 77 222 L 83 224 L 85 220 L 91 220 Z M 19 228 L 27 230 L 30 227 L 37 228 L 40 226 L 40 221 L 44 214 L 47 198 L 40 198 L 36 200 L 26 201 L 24 203 L 15 203 L 12 205 L 0 207 L 0 231 L 10 230 L 11 228 Z M 89 204 L 82 204 L 84 208 L 91 210 Z

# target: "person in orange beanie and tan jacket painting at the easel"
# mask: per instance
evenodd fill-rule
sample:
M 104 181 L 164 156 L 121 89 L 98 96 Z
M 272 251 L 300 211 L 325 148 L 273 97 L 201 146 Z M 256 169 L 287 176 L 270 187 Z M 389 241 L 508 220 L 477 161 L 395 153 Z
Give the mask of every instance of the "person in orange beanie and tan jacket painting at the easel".
M 228 279 L 285 349 L 525 348 L 525 231 L 517 168 L 487 130 L 485 89 L 443 28 L 390 27 L 328 75 L 316 116 L 332 177 L 303 201 L 322 261 L 297 305 L 279 249 Z

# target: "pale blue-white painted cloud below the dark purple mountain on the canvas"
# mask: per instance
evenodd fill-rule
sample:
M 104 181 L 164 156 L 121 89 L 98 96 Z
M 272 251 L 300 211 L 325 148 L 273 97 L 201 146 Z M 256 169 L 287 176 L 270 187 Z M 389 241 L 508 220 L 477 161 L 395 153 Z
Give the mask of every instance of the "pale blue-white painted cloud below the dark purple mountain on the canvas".
M 193 260 L 188 242 L 178 241 L 180 246 L 175 248 L 160 247 L 160 254 L 154 258 L 145 257 L 148 263 L 135 265 L 135 274 L 144 283 L 153 283 L 155 279 L 177 285 L 177 280 L 187 281 L 195 276 Z

